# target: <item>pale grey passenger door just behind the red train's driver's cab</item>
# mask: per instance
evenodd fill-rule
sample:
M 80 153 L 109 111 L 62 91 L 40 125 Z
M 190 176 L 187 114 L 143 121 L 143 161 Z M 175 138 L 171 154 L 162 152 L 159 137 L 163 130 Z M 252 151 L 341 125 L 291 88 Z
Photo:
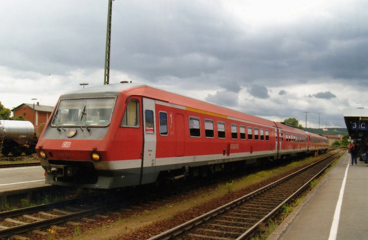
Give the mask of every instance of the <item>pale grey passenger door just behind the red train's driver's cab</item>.
M 155 100 L 143 98 L 143 136 L 141 184 L 153 182 L 156 161 Z

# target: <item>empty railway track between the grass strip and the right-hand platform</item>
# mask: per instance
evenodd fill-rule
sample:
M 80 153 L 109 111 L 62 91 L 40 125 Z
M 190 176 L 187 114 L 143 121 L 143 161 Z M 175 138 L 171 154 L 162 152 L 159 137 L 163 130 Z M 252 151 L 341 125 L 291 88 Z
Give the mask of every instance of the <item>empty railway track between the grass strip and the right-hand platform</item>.
M 248 239 L 257 227 L 298 196 L 322 174 L 340 154 L 315 164 L 240 197 L 206 214 L 191 219 L 148 240 L 241 240 Z

